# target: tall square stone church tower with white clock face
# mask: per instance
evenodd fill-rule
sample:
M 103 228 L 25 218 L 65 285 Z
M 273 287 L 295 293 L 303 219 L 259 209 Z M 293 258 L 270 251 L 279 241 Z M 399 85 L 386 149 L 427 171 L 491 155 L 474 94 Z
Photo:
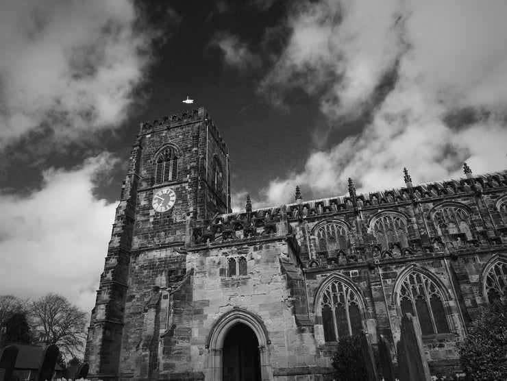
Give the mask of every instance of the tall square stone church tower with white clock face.
M 227 157 L 204 108 L 141 124 L 88 328 L 94 378 L 152 376 L 160 330 L 152 307 L 160 289 L 167 299 L 169 283 L 185 276 L 193 221 L 230 211 Z

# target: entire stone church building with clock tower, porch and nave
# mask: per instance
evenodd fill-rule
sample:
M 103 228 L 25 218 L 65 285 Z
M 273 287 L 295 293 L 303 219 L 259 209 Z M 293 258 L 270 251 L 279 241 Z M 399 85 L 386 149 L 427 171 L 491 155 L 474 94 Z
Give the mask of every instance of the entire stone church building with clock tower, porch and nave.
M 507 171 L 245 211 L 200 108 L 142 123 L 86 358 L 101 380 L 327 380 L 337 341 L 419 319 L 432 373 L 506 294 Z M 400 171 L 401 172 L 401 171 Z

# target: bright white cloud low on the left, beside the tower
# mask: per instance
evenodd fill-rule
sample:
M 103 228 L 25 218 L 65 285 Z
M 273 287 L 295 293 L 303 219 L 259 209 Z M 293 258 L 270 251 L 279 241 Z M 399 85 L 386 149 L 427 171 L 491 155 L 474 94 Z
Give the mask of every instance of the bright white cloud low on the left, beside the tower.
M 42 189 L 27 197 L 0 195 L 1 293 L 60 293 L 90 312 L 116 207 L 93 196 L 93 180 L 114 162 L 104 153 L 71 171 L 45 171 Z

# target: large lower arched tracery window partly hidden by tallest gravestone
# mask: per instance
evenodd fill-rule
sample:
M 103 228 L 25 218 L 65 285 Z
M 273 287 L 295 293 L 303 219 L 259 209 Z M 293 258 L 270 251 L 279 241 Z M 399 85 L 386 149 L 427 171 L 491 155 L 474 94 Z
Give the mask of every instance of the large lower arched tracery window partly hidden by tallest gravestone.
M 419 319 L 422 334 L 450 332 L 442 293 L 423 273 L 412 271 L 403 280 L 399 290 L 399 306 L 401 313 L 410 313 Z

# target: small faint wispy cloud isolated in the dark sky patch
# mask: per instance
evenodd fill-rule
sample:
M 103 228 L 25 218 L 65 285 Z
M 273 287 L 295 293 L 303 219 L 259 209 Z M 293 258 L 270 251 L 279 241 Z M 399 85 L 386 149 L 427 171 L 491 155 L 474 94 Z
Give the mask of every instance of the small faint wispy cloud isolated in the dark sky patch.
M 217 46 L 223 53 L 225 64 L 245 71 L 257 69 L 262 65 L 260 57 L 253 54 L 246 42 L 240 42 L 238 36 L 219 33 L 214 36 L 211 45 Z

